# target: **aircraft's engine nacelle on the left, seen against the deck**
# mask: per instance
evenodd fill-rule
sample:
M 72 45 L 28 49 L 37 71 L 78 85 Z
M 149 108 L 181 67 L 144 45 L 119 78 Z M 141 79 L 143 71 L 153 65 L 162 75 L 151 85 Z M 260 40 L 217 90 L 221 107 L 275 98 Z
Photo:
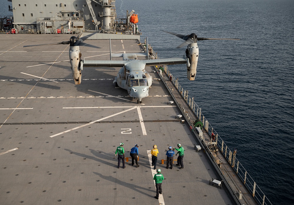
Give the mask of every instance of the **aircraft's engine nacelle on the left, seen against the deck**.
M 72 76 L 74 77 L 74 84 L 81 84 L 83 65 L 81 61 L 81 54 L 79 46 L 70 46 L 69 61 L 72 69 Z

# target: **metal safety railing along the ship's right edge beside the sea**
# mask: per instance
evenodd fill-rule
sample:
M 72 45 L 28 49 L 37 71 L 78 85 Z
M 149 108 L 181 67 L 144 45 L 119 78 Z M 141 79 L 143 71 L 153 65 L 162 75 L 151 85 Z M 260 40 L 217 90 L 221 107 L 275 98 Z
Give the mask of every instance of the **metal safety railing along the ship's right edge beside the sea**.
M 153 56 L 157 57 L 157 53 L 152 49 L 150 49 Z M 149 51 L 149 52 L 150 52 Z M 224 140 L 217 134 L 217 132 L 213 129 L 212 125 L 208 123 L 208 120 L 204 117 L 202 114 L 201 108 L 196 104 L 194 101 L 194 97 L 190 97 L 188 95 L 188 90 L 185 90 L 178 82 L 178 78 L 173 76 L 171 72 L 168 70 L 167 66 L 162 66 L 165 73 L 170 76 L 170 79 L 172 83 L 175 85 L 177 90 L 180 92 L 182 97 L 185 99 L 187 104 L 190 106 L 191 110 L 194 112 L 195 116 L 197 116 L 197 119 L 202 121 L 203 126 L 205 127 L 206 131 L 211 135 L 212 132 L 215 134 L 215 141 L 217 142 L 217 146 L 219 151 L 222 152 L 223 156 L 227 160 L 227 162 L 232 166 L 232 168 L 235 170 L 237 176 L 243 181 L 244 185 L 247 187 L 247 189 L 250 191 L 256 202 L 260 205 L 272 205 L 272 203 L 268 200 L 268 198 L 265 196 L 263 191 L 259 188 L 259 186 L 255 183 L 255 181 L 252 179 L 252 177 L 248 174 L 246 169 L 242 166 L 240 161 L 236 158 L 236 151 L 231 151 L 228 146 L 225 144 Z M 193 127 L 194 131 L 195 127 Z M 196 132 L 197 133 L 197 132 Z M 236 193 L 237 194 L 237 193 Z

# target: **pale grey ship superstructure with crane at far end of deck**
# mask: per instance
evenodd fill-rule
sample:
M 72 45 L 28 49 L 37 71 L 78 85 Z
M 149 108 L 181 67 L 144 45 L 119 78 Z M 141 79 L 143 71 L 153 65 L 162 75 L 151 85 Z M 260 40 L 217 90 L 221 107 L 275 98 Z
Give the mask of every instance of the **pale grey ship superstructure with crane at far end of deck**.
M 11 0 L 10 0 L 11 1 Z M 85 30 L 102 33 L 139 34 L 129 18 L 117 19 L 115 0 L 27 1 L 13 0 L 13 27 L 40 34 L 74 34 Z

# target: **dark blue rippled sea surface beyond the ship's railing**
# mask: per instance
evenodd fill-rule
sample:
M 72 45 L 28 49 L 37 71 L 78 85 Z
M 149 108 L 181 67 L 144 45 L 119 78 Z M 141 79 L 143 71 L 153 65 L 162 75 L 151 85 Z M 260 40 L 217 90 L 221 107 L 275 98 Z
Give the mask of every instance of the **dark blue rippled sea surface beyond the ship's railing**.
M 169 69 L 272 204 L 294 204 L 293 0 L 116 0 L 116 9 L 135 10 L 141 41 L 160 58 L 186 49 L 162 30 L 241 39 L 198 41 L 195 81 L 185 65 Z

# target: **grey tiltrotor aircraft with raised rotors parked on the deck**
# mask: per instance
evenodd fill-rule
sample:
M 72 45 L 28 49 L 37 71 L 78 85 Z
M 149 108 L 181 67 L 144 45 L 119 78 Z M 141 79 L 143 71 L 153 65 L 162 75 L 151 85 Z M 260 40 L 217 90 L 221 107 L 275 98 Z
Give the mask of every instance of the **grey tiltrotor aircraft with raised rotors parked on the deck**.
M 170 33 L 170 32 L 167 32 Z M 88 36 L 77 38 L 72 36 L 69 41 L 63 41 L 53 44 L 41 44 L 41 45 L 54 45 L 54 44 L 69 44 L 69 59 L 74 78 L 74 83 L 80 84 L 82 80 L 82 70 L 84 67 L 122 67 L 114 83 L 123 89 L 128 91 L 129 96 L 137 99 L 137 103 L 142 103 L 142 98 L 149 95 L 149 87 L 152 85 L 152 76 L 145 71 L 145 66 L 156 65 L 175 65 L 175 64 L 187 64 L 187 78 L 189 80 L 195 80 L 196 67 L 198 61 L 199 49 L 197 46 L 196 34 L 184 35 L 170 33 L 186 40 L 184 44 L 188 44 L 186 50 L 186 56 L 182 58 L 165 58 L 165 59 L 149 59 L 148 53 L 148 39 L 146 39 L 146 53 L 126 53 L 126 54 L 112 54 L 111 53 L 111 40 L 110 41 L 110 60 L 82 60 L 79 46 L 89 46 L 93 48 L 99 48 L 86 44 L 83 41 L 94 35 L 92 33 Z M 195 37 L 196 36 L 196 37 Z M 199 38 L 198 38 L 199 40 Z M 210 39 L 201 39 L 210 40 Z M 240 39 L 230 39 L 240 40 Z M 195 42 L 196 41 L 196 42 Z M 30 45 L 30 46 L 41 46 Z M 182 44 L 181 44 L 182 45 Z M 28 47 L 28 46 L 24 46 Z M 146 56 L 146 60 L 138 60 L 139 56 Z M 122 57 L 120 61 L 112 60 L 112 57 Z

